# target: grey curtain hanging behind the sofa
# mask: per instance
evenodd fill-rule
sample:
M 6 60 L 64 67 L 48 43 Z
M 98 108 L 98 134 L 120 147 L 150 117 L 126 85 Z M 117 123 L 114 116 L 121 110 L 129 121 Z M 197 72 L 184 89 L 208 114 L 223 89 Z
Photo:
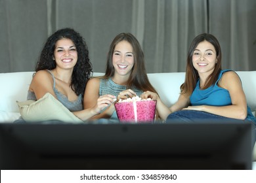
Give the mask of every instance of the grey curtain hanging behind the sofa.
M 104 72 L 114 37 L 139 40 L 148 73 L 185 71 L 190 42 L 213 33 L 223 69 L 256 70 L 255 0 L 0 0 L 0 73 L 33 71 L 47 37 L 73 27 L 89 46 L 94 72 Z

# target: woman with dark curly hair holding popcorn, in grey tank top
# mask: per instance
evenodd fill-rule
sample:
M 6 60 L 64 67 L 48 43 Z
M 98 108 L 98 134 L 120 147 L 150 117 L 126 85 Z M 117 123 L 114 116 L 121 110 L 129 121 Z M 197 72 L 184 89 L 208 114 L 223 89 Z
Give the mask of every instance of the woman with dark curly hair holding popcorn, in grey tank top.
M 85 121 L 113 102 L 104 95 L 83 110 L 85 86 L 92 75 L 87 44 L 74 29 L 64 28 L 51 35 L 43 47 L 28 91 L 28 99 L 38 100 L 46 93 Z

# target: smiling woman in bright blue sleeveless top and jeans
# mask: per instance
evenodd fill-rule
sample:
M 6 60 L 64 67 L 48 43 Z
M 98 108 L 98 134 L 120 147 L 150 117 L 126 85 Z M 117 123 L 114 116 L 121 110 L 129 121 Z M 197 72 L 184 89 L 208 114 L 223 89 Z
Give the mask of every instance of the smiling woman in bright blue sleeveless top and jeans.
M 221 69 L 221 46 L 216 37 L 207 33 L 198 35 L 190 44 L 178 101 L 168 108 L 156 93 L 146 92 L 143 97 L 158 101 L 158 113 L 167 122 L 211 119 L 247 120 L 256 124 L 240 77 L 234 71 Z

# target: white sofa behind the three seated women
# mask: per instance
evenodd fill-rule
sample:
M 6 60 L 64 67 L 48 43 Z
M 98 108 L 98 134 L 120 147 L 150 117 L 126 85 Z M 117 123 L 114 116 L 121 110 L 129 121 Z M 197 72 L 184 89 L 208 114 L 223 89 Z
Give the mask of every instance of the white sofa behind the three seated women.
M 242 80 L 247 103 L 255 115 L 256 71 L 238 71 L 237 73 Z M 102 75 L 102 73 L 94 73 L 94 76 L 98 75 Z M 0 73 L 0 123 L 12 123 L 20 117 L 16 101 L 26 101 L 32 76 L 33 72 Z M 150 82 L 167 106 L 171 106 L 177 101 L 184 76 L 184 73 L 148 74 Z M 256 160 L 256 148 L 253 154 L 254 160 Z

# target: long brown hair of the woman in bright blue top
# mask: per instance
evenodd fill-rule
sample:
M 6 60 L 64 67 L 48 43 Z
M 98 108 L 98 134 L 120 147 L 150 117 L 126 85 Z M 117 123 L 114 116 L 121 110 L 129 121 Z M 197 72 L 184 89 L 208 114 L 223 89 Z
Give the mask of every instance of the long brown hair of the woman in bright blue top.
M 186 59 L 186 76 L 184 83 L 181 85 L 181 94 L 190 96 L 194 91 L 194 88 L 196 88 L 196 82 L 198 82 L 199 75 L 198 71 L 196 71 L 196 69 L 193 66 L 192 56 L 194 54 L 196 46 L 198 46 L 198 44 L 203 41 L 208 41 L 211 44 L 213 44 L 217 55 L 217 63 L 215 64 L 213 73 L 211 73 L 211 75 L 208 76 L 205 85 L 203 86 L 202 89 L 209 88 L 210 86 L 215 84 L 215 82 L 217 82 L 219 73 L 221 72 L 221 46 L 215 36 L 208 33 L 202 33 L 195 37 L 190 44 L 188 56 Z

